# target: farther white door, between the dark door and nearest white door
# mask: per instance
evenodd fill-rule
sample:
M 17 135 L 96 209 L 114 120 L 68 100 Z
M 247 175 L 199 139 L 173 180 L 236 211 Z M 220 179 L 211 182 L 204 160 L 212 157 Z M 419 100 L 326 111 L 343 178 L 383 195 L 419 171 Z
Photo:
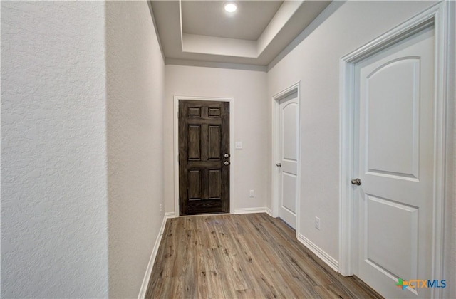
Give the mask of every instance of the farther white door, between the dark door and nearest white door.
M 298 93 L 279 102 L 279 217 L 296 229 L 298 196 Z

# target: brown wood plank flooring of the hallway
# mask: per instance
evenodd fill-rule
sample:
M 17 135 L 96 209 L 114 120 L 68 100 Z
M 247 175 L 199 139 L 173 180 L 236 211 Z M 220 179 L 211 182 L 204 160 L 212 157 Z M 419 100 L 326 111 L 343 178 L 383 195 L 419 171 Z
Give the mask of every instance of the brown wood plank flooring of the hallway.
M 382 298 L 267 214 L 168 219 L 146 298 Z

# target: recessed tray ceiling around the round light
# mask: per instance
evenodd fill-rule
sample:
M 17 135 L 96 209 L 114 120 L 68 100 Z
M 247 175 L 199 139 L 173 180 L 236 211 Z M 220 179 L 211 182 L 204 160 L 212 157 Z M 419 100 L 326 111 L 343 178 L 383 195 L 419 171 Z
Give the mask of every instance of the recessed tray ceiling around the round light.
M 167 64 L 266 67 L 331 1 L 150 1 Z

